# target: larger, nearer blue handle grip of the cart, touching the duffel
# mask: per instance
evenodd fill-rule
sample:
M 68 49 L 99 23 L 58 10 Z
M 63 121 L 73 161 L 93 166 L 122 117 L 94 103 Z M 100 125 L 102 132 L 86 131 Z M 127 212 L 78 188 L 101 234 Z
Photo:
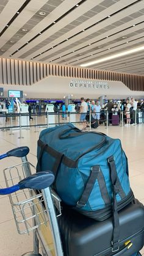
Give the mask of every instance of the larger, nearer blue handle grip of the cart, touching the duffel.
M 0 189 L 0 195 L 11 194 L 25 188 L 45 189 L 48 188 L 53 181 L 54 174 L 52 174 L 52 172 L 37 172 L 37 174 L 24 178 L 18 184 L 12 187 Z

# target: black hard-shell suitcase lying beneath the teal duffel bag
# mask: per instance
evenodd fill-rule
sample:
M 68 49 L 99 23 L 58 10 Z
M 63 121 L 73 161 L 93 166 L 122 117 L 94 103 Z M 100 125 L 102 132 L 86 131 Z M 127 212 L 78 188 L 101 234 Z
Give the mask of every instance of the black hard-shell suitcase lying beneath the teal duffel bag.
M 119 211 L 120 248 L 112 252 L 112 218 L 98 222 L 70 208 L 59 218 L 65 256 L 139 255 L 144 243 L 144 207 L 138 200 Z M 125 243 L 128 243 L 127 245 Z

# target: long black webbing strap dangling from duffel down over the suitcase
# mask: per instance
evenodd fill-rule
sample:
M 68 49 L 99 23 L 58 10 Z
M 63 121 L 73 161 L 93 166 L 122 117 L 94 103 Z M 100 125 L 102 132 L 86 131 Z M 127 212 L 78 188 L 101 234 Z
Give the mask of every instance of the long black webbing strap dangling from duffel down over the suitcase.
M 120 222 L 118 218 L 117 199 L 116 196 L 119 192 L 117 185 L 117 169 L 115 166 L 115 160 L 113 156 L 107 159 L 110 166 L 110 178 L 112 181 L 113 190 L 113 234 L 112 234 L 112 252 L 119 250 L 119 238 L 120 238 Z

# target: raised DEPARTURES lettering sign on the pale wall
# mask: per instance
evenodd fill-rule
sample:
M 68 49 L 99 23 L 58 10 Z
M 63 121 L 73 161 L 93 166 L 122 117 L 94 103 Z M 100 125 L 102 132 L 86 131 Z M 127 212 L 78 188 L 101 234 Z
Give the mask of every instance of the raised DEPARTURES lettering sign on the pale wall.
M 107 82 L 104 81 L 89 81 L 89 80 L 77 80 L 71 79 L 70 81 L 71 88 L 87 88 L 87 89 L 103 89 L 108 90 L 110 86 Z

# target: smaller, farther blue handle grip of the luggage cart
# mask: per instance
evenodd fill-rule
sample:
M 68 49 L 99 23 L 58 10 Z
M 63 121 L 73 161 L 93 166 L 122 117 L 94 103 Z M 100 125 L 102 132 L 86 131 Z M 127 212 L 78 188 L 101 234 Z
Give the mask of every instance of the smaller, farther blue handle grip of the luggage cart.
M 26 156 L 28 153 L 29 153 L 29 148 L 26 146 L 13 148 L 7 153 L 0 155 L 0 160 L 3 158 L 7 158 L 8 156 L 15 156 L 17 158 L 22 158 L 23 156 Z

